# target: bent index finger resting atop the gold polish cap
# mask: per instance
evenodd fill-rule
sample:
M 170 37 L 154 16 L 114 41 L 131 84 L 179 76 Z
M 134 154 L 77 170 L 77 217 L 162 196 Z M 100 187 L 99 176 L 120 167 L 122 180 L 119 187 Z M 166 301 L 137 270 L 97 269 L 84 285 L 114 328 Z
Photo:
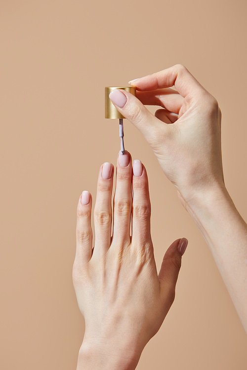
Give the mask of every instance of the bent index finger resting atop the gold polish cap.
M 183 97 L 196 96 L 199 91 L 206 91 L 196 78 L 181 64 L 163 71 L 149 74 L 145 77 L 130 81 L 137 90 L 150 91 L 175 86 Z

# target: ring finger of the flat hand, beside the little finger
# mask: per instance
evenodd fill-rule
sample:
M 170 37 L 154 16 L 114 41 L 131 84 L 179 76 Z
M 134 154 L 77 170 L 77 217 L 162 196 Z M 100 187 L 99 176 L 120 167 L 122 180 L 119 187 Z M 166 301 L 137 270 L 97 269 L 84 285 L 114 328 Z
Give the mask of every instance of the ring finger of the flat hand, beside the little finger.
M 94 208 L 95 246 L 93 253 L 96 254 L 105 253 L 111 243 L 113 174 L 112 163 L 106 162 L 100 167 Z

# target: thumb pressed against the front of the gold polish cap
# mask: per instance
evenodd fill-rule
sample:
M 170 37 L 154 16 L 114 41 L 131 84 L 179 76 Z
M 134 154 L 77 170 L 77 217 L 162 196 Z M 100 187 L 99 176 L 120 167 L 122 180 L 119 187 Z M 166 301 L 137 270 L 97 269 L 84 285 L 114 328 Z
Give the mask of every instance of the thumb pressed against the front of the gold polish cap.
M 109 95 L 116 109 L 143 134 L 153 147 L 161 135 L 161 125 L 156 118 L 133 94 L 115 89 Z

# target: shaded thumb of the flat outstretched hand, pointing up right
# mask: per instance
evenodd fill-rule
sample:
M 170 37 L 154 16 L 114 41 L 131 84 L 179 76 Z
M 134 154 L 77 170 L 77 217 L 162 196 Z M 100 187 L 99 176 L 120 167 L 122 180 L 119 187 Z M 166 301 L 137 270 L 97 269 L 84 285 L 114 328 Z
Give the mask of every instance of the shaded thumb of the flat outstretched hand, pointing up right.
M 159 273 L 159 281 L 161 288 L 163 287 L 166 293 L 168 291 L 173 295 L 175 294 L 175 286 L 181 267 L 182 255 L 187 245 L 188 240 L 186 238 L 177 239 L 165 252 Z

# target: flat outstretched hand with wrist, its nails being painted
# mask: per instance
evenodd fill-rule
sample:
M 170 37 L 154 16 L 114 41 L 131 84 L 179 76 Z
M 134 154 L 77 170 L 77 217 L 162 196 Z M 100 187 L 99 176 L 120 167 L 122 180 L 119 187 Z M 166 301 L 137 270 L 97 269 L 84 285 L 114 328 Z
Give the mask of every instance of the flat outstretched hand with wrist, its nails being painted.
M 132 175 L 128 152 L 118 157 L 111 237 L 113 174 L 112 164 L 101 166 L 94 246 L 91 195 L 83 191 L 78 203 L 73 283 L 85 319 L 78 370 L 135 369 L 174 300 L 181 255 L 188 243 L 182 238 L 171 244 L 158 275 L 150 234 L 147 173 L 136 160 Z

